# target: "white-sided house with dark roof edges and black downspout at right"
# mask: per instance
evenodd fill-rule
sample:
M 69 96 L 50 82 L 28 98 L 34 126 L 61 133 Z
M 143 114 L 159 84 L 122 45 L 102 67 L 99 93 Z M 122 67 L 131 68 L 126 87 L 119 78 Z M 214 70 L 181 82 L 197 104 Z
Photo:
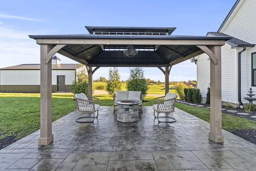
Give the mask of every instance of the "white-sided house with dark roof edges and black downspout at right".
M 248 103 L 249 88 L 256 92 L 256 0 L 237 0 L 217 32 L 207 36 L 232 36 L 222 46 L 222 101 L 236 106 Z M 255 53 L 255 54 L 254 54 Z M 239 60 L 239 56 L 240 59 Z M 253 57 L 254 56 L 254 57 Z M 197 56 L 197 87 L 206 96 L 210 83 L 210 61 Z M 252 66 L 252 61 L 254 65 Z M 240 70 L 239 70 L 240 64 Z M 253 74 L 255 72 L 255 74 Z M 254 80 L 254 81 L 253 81 Z M 254 96 L 255 97 L 255 96 Z

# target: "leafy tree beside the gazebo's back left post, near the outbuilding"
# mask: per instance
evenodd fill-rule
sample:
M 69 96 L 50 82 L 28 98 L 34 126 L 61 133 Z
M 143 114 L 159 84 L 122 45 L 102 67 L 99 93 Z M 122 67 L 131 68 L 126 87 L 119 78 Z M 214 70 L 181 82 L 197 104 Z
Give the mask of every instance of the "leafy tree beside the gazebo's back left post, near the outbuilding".
M 76 80 L 72 82 L 71 92 L 88 95 L 88 74 L 83 64 L 79 64 L 78 68 L 76 68 Z

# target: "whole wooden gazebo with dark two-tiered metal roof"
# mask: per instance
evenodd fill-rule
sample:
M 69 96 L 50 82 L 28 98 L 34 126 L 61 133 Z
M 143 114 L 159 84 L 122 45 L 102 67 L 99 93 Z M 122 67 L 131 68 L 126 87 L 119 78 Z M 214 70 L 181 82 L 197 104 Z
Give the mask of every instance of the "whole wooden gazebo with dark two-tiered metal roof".
M 33 35 L 40 45 L 40 138 L 39 145 L 53 142 L 52 56 L 57 52 L 81 64 L 88 71 L 88 95 L 92 76 L 100 67 L 156 67 L 165 75 L 165 93 L 173 65 L 206 53 L 210 57 L 209 139 L 224 141 L 221 111 L 221 46 L 231 37 L 173 36 L 176 28 L 90 27 L 90 34 Z M 124 53 L 125 50 L 134 54 Z M 135 52 L 138 53 L 135 53 Z M 93 69 L 94 67 L 94 69 Z

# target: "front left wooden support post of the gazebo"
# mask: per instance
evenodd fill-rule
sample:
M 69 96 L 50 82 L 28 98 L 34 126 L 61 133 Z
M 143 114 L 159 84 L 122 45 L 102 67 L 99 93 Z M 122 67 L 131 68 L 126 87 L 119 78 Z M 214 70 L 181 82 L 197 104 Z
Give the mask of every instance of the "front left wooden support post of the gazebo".
M 51 48 L 47 44 L 40 45 L 40 138 L 38 145 L 53 142 L 52 135 L 52 58 L 45 64 Z

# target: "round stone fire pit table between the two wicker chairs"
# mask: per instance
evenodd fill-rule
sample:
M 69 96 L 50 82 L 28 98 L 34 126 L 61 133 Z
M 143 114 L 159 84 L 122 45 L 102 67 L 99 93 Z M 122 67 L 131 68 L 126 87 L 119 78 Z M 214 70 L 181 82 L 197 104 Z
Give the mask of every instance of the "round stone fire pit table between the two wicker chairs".
M 139 100 L 117 100 L 117 120 L 120 122 L 135 122 L 139 119 L 138 104 L 142 103 Z

